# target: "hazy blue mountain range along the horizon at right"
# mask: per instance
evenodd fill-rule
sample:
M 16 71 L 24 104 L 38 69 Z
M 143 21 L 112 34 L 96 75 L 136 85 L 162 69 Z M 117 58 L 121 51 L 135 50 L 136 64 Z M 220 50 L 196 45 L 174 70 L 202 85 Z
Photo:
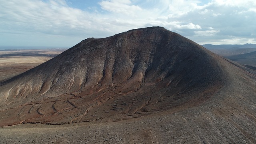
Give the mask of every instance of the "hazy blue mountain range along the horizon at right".
M 256 48 L 256 44 L 220 44 L 220 45 L 203 44 L 202 46 L 207 49 Z

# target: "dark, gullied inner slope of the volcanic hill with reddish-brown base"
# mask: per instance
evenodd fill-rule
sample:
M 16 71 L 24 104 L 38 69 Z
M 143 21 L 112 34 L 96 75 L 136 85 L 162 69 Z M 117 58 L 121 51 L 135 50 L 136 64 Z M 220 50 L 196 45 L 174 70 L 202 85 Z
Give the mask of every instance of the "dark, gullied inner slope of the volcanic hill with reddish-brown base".
M 224 59 L 162 27 L 88 38 L 0 83 L 0 126 L 116 121 L 205 102 Z

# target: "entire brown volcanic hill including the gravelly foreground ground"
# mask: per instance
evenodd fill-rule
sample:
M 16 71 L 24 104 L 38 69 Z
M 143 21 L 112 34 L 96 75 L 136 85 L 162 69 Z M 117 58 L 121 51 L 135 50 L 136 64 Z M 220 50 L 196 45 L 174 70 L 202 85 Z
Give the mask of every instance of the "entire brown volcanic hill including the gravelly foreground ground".
M 256 143 L 255 73 L 162 27 L 88 38 L 0 82 L 0 141 Z

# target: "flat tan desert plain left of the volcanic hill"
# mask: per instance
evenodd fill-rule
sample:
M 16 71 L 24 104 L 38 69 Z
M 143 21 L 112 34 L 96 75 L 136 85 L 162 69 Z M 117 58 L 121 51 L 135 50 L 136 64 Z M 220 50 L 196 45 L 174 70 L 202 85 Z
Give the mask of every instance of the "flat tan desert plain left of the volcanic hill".
M 0 82 L 34 68 L 64 50 L 0 50 Z

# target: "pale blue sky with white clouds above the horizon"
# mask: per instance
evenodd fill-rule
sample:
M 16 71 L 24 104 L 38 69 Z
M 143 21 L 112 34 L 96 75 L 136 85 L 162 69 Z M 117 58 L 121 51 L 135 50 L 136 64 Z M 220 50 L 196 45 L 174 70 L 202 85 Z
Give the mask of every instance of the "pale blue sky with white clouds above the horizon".
M 0 0 L 0 46 L 70 48 L 163 26 L 198 44 L 256 44 L 256 0 Z

